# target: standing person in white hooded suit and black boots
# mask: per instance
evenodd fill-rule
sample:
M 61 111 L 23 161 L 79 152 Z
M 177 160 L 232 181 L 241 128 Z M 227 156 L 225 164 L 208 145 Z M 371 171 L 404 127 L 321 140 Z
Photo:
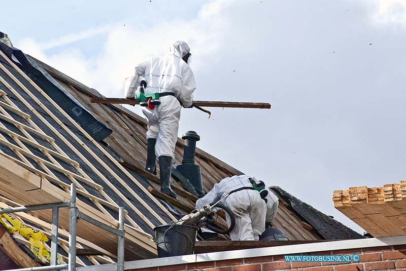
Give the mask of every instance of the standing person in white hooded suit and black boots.
M 126 79 L 125 96 L 134 98 L 142 77 L 147 82 L 145 93 L 159 93 L 160 104 L 154 109 L 142 107 L 148 119 L 147 163 L 145 169 L 156 174 L 156 157 L 159 161 L 161 191 L 176 198 L 171 189 L 171 165 L 178 139 L 179 119 L 182 106 L 191 107 L 192 93 L 196 89 L 190 69 L 189 46 L 176 42 L 162 57 L 151 57 L 138 64 L 132 76 Z

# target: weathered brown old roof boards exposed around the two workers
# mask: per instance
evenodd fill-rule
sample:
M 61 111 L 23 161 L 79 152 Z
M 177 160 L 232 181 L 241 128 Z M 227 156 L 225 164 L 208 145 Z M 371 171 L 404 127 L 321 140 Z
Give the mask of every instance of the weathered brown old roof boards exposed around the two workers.
M 54 68 L 46 65 L 45 63 L 42 63 L 40 61 L 38 62 L 41 63 L 41 65 L 48 72 L 50 72 L 52 76 L 54 76 L 54 78 L 58 81 L 59 84 L 61 84 L 65 89 L 71 90 L 72 95 L 75 96 L 75 98 L 77 98 L 79 101 L 81 101 L 88 110 L 97 115 L 101 121 L 107 122 L 110 127 L 114 127 L 112 128 L 113 129 L 112 135 L 105 141 L 108 142 L 110 147 L 115 149 L 117 153 L 120 153 L 122 160 L 126 161 L 124 164 L 132 164 L 141 169 L 140 171 L 143 171 L 142 168 L 144 167 L 146 159 L 146 139 L 145 139 L 145 133 L 147 131 L 146 121 L 140 118 L 137 114 L 121 106 L 91 104 L 89 102 L 90 97 L 99 96 L 99 93 L 69 78 L 69 76 L 66 76 L 65 74 L 55 70 Z M 119 115 L 121 115 L 121 117 L 119 117 Z M 134 138 L 135 141 L 137 142 L 132 141 L 132 138 Z M 182 162 L 183 155 L 182 148 L 183 148 L 183 140 L 179 139 L 175 151 L 177 164 L 181 164 Z M 137 153 L 140 157 L 134 156 L 132 155 L 132 153 Z M 206 191 L 210 190 L 216 182 L 219 182 L 221 179 L 225 177 L 243 174 L 242 172 L 210 156 L 210 154 L 200 149 L 196 149 L 196 164 L 199 164 L 201 166 L 202 184 Z M 144 173 L 144 175 L 145 174 L 146 173 Z M 155 182 L 151 182 L 151 185 L 153 185 L 154 188 L 159 190 L 159 185 L 156 184 Z M 176 189 L 177 192 L 185 190 L 185 188 L 175 179 L 172 179 L 172 185 L 177 188 Z M 279 194 L 277 193 L 277 196 L 282 201 L 286 199 L 282 198 L 280 193 Z M 177 205 L 177 209 L 180 212 L 182 213 L 184 213 L 185 211 L 188 212 L 194 208 L 194 201 L 196 197 L 190 195 L 190 193 L 183 192 L 181 195 L 178 195 L 178 199 L 180 205 Z M 318 212 L 314 208 L 313 210 Z M 326 215 L 318 216 L 318 218 L 320 219 L 326 219 L 326 217 L 327 220 L 330 219 L 335 221 L 334 219 L 331 219 Z M 312 220 L 309 219 L 309 221 Z M 303 221 L 303 216 L 299 215 L 299 213 L 297 213 L 294 209 L 292 208 L 288 209 L 285 204 L 280 204 L 274 224 L 277 227 L 284 230 L 290 240 L 362 238 L 361 235 L 356 234 L 354 231 L 352 231 L 351 229 L 349 229 L 348 227 L 344 226 L 339 222 L 336 223 L 341 224 L 341 227 L 335 227 L 334 229 L 329 228 L 325 229 L 326 231 L 331 231 L 335 233 L 329 235 L 328 236 L 329 238 L 326 238 L 323 235 L 320 235 L 319 230 L 322 230 L 322 226 L 330 227 L 331 225 L 335 224 L 332 222 L 331 224 L 325 223 L 322 225 L 318 225 L 317 223 L 315 223 L 315 221 L 312 222 L 313 224 L 310 224 L 308 220 Z M 353 232 L 355 234 L 350 235 L 350 237 L 347 237 L 348 231 Z

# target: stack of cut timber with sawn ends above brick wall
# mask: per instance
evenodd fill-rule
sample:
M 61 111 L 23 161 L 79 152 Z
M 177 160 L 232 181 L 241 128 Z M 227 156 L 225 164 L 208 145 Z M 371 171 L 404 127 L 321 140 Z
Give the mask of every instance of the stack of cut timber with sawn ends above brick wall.
M 374 237 L 406 235 L 406 181 L 333 192 L 334 207 Z

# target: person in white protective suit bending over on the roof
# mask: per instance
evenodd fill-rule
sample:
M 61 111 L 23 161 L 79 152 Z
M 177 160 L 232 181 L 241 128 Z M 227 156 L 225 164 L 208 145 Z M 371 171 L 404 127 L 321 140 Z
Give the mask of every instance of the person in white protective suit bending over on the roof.
M 241 187 L 248 189 L 232 192 Z M 259 240 L 278 210 L 278 197 L 262 181 L 249 175 L 232 176 L 216 183 L 205 197 L 196 201 L 196 209 L 220 199 L 234 214 L 235 226 L 230 232 L 233 241 Z M 228 215 L 226 220 L 230 226 Z

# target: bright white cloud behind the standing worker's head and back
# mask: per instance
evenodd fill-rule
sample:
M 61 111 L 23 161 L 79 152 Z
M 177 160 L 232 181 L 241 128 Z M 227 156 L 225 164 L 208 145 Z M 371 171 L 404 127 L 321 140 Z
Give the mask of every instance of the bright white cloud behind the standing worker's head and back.
M 185 40 L 192 49 L 193 69 L 205 66 L 204 60 L 219 47 L 219 40 L 227 29 L 225 8 L 233 1 L 215 0 L 202 5 L 198 16 L 191 20 L 159 21 L 147 29 L 108 25 L 71 33 L 51 41 L 32 38 L 17 43 L 17 47 L 47 64 L 70 75 L 85 85 L 109 96 L 122 95 L 123 81 L 134 65 L 146 56 L 167 52 L 172 43 Z M 105 43 L 96 56 L 86 58 L 80 49 L 63 49 L 50 53 L 47 49 L 105 34 Z M 98 46 L 94 44 L 93 46 Z

